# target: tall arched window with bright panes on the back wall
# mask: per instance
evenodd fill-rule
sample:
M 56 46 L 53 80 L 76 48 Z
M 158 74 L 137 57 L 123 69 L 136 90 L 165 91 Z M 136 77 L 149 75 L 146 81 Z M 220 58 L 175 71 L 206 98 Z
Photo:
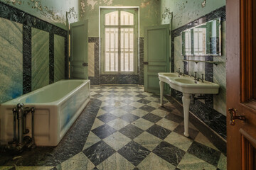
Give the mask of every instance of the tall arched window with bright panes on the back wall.
M 137 8 L 102 8 L 100 12 L 102 74 L 137 73 Z

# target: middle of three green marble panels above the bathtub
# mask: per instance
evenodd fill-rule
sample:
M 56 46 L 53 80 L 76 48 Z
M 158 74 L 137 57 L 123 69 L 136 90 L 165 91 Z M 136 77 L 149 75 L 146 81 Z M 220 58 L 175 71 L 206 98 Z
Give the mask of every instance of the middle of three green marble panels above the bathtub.
M 49 84 L 49 33 L 32 28 L 32 91 Z

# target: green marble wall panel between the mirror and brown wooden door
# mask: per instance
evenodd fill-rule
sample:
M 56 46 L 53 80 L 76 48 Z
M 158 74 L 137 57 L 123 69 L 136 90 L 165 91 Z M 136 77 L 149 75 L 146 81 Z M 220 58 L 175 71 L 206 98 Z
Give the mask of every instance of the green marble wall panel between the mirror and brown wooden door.
M 213 95 L 213 108 L 226 115 L 226 49 L 225 49 L 225 28 L 226 21 L 222 23 L 222 56 L 221 57 L 213 57 L 215 62 L 220 62 L 217 66 L 213 65 L 213 82 L 216 84 L 220 84 L 220 93 L 218 95 Z

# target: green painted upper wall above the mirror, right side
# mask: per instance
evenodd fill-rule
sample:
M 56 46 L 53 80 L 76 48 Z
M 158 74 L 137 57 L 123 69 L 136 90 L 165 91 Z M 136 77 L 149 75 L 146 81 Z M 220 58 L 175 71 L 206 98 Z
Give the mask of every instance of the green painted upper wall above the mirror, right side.
M 204 7 L 203 4 L 205 4 Z M 174 30 L 221 6 L 225 6 L 225 0 L 161 0 L 161 13 L 165 8 L 169 8 L 170 12 L 174 13 L 172 26 Z M 161 23 L 169 23 L 169 20 L 166 18 Z

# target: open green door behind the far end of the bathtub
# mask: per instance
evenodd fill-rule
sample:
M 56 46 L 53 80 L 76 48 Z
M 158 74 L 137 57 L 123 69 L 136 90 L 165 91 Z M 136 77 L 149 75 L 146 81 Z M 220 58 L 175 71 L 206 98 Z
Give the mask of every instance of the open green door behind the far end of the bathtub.
M 88 79 L 88 21 L 70 24 L 70 79 Z

